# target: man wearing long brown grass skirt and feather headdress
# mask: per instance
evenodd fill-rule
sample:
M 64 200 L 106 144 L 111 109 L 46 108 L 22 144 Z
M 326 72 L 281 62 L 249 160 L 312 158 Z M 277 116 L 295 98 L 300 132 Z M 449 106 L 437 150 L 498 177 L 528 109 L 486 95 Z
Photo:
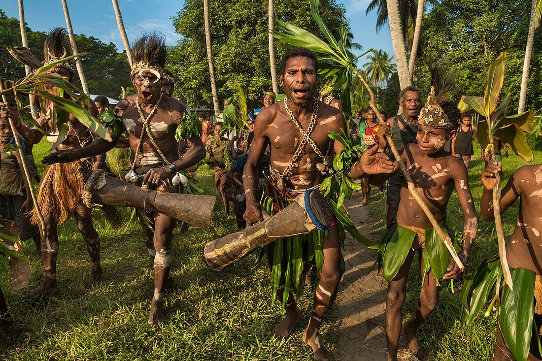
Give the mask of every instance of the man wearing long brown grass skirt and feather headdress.
M 66 36 L 66 30 L 56 28 L 51 31 L 43 44 L 43 54 L 45 56 L 44 64 L 73 55 L 73 49 Z M 75 67 L 71 62 L 64 61 L 49 70 L 48 74 L 56 74 L 67 79 L 69 82 L 74 80 Z M 54 111 L 52 104 L 48 104 L 46 109 L 41 109 L 40 118 L 37 123 L 49 134 L 47 140 L 55 145 L 59 134 L 58 128 L 51 128 L 51 112 Z M 94 117 L 98 111 L 94 102 L 89 100 L 89 113 Z M 44 134 L 37 128 L 29 128 L 21 124 L 17 112 L 12 111 L 9 106 L 3 106 L 0 111 L 0 117 L 4 119 L 11 118 L 19 136 L 31 144 L 40 143 Z M 85 145 L 92 143 L 93 136 L 88 128 L 81 124 L 74 115 L 70 114 L 68 120 L 68 132 L 66 138 L 56 145 L 55 150 L 66 151 L 80 149 Z M 98 233 L 92 224 L 92 209 L 87 208 L 81 199 L 83 186 L 86 178 L 92 172 L 92 162 L 83 157 L 75 157 L 66 164 L 53 164 L 47 167 L 41 179 L 37 202 L 43 212 L 43 218 L 46 223 L 44 230 L 45 237 L 41 240 L 41 254 L 43 260 L 44 280 L 40 287 L 34 291 L 24 294 L 24 298 L 33 298 L 41 294 L 54 294 L 58 291 L 56 284 L 56 257 L 59 252 L 59 236 L 57 233 L 57 224 L 62 224 L 68 218 L 75 218 L 79 231 L 83 237 L 83 242 L 91 258 L 91 275 L 85 282 L 85 288 L 92 288 L 100 283 L 102 279 L 102 268 L 100 265 L 100 240 Z M 33 223 L 38 223 L 38 217 L 34 210 L 32 217 Z

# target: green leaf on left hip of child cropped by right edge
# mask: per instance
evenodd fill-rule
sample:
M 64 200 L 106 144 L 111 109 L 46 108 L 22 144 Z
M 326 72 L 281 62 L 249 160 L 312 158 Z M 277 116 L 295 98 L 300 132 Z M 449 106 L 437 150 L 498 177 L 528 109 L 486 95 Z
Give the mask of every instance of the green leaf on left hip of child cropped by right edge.
M 500 267 L 498 256 L 489 257 L 482 260 L 480 265 L 465 277 L 459 296 L 464 307 L 461 314 L 463 325 L 469 325 L 486 305 L 494 289 Z

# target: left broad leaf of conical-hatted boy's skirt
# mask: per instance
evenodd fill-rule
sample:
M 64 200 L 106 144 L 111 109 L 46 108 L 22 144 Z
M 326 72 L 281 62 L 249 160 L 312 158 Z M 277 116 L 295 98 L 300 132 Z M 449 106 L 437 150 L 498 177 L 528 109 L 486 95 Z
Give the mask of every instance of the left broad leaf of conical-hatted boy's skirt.
M 415 237 L 415 231 L 397 226 L 397 231 L 393 232 L 389 238 L 382 262 L 382 273 L 386 281 L 393 280 L 403 266 L 406 256 L 412 249 L 412 242 Z

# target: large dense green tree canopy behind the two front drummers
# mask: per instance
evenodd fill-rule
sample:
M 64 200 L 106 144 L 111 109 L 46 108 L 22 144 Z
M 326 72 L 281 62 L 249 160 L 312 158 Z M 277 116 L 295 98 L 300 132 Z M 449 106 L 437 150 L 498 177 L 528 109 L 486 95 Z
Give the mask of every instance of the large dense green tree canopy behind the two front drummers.
M 272 88 L 267 37 L 267 2 L 217 0 L 210 2 L 212 54 L 216 68 L 218 96 L 227 98 L 239 83 L 250 106 L 261 106 L 263 93 Z M 345 9 L 335 0 L 320 2 L 322 18 L 331 29 L 346 23 Z M 275 2 L 275 16 L 323 36 L 314 22 L 306 0 Z M 177 77 L 175 95 L 191 106 L 212 103 L 209 68 L 205 53 L 203 4 L 187 0 L 173 18 L 177 33 L 183 36 L 170 47 L 167 60 Z M 289 46 L 275 42 L 277 64 Z

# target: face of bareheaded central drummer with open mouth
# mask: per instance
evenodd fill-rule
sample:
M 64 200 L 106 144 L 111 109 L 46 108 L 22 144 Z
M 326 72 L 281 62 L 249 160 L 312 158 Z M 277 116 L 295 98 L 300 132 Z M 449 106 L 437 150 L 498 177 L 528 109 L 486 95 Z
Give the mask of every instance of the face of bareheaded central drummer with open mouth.
M 312 59 L 296 56 L 288 59 L 286 72 L 280 75 L 280 83 L 289 100 L 296 106 L 306 106 L 314 96 L 318 74 Z

